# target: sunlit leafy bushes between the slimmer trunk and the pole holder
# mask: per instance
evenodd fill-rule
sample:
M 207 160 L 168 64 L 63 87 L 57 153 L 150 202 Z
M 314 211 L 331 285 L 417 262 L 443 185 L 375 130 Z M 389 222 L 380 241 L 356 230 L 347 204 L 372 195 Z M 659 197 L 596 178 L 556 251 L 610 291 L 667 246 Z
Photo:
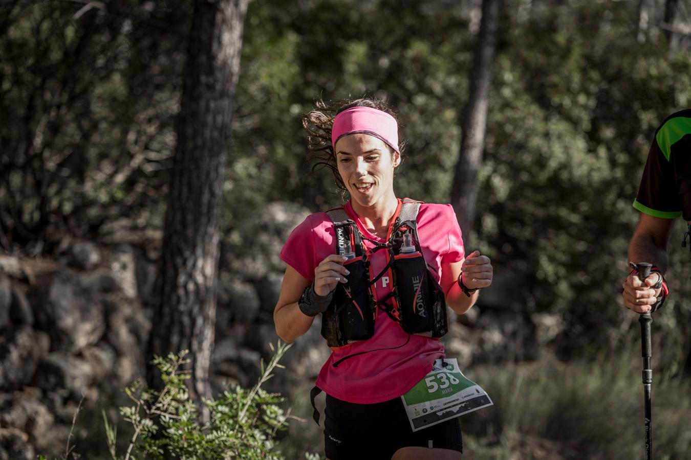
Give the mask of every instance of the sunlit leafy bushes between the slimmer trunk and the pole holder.
M 522 274 L 529 309 L 566 319 L 568 353 L 609 346 L 625 321 L 631 203 L 655 128 L 691 94 L 691 53 L 641 45 L 632 14 L 584 1 L 505 21 L 495 63 L 480 237 Z

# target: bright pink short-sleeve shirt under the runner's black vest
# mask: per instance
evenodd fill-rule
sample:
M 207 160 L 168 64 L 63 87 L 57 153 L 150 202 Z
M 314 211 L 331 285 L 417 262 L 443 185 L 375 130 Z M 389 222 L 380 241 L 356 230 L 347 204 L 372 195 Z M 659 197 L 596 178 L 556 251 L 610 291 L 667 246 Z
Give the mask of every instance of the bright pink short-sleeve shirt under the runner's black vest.
M 350 202 L 345 203 L 345 208 L 356 215 Z M 368 232 L 359 219 L 356 222 L 365 237 L 385 242 Z M 464 259 L 461 229 L 451 205 L 423 203 L 417 215 L 417 232 L 425 260 L 437 281 L 442 263 Z M 311 281 L 314 268 L 325 257 L 336 253 L 334 237 L 333 224 L 325 212 L 310 214 L 288 237 L 281 259 Z M 368 248 L 374 246 L 369 241 L 365 244 Z M 375 252 L 369 260 L 375 273 L 386 265 L 384 251 Z M 390 279 L 381 277 L 376 283 L 377 297 L 381 299 L 391 288 Z M 431 370 L 435 359 L 444 356 L 444 346 L 436 339 L 411 335 L 408 343 L 406 340 L 408 334 L 397 322 L 387 314 L 377 314 L 372 338 L 332 350 L 319 372 L 316 386 L 332 397 L 359 404 L 380 403 L 401 396 Z M 377 348 L 390 349 L 360 354 L 338 367 L 333 366 L 349 354 Z

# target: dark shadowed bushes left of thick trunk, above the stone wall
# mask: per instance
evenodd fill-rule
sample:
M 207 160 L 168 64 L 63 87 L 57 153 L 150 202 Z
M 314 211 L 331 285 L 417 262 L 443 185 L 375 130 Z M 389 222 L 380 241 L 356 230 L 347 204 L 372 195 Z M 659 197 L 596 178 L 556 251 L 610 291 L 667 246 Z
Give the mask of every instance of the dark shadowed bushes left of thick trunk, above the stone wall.
M 160 219 L 187 3 L 2 3 L 0 247 Z

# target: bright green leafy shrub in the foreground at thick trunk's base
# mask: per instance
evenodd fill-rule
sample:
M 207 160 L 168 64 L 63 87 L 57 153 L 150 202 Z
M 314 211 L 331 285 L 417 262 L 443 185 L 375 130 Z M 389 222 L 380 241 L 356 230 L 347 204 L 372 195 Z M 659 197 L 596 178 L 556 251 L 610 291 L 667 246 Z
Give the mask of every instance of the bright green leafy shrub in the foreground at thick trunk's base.
M 208 423 L 200 423 L 198 408 L 189 399 L 185 381 L 189 371 L 183 370 L 189 361 L 187 351 L 156 357 L 155 366 L 161 372 L 164 388 L 151 390 L 134 381 L 124 389 L 133 401 L 132 406 L 122 406 L 120 414 L 131 424 L 133 434 L 124 455 L 116 450 L 117 431 L 103 412 L 108 451 L 113 460 L 129 460 L 135 457 L 165 459 L 171 455 L 180 459 L 282 459 L 274 448 L 278 430 L 287 426 L 287 414 L 278 404 L 283 402 L 279 394 L 266 392 L 262 384 L 270 379 L 274 368 L 290 345 L 278 342 L 269 364 L 261 363 L 261 377 L 256 385 L 247 390 L 236 386 L 223 392 L 217 399 L 204 399 L 209 411 Z

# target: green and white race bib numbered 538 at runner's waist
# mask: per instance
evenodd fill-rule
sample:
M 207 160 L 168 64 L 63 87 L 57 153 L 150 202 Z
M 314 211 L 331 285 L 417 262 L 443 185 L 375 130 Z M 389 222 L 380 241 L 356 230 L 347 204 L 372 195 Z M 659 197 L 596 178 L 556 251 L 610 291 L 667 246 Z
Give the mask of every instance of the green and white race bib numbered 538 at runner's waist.
M 493 404 L 477 383 L 466 379 L 455 358 L 436 359 L 433 369 L 401 399 L 414 432 Z

